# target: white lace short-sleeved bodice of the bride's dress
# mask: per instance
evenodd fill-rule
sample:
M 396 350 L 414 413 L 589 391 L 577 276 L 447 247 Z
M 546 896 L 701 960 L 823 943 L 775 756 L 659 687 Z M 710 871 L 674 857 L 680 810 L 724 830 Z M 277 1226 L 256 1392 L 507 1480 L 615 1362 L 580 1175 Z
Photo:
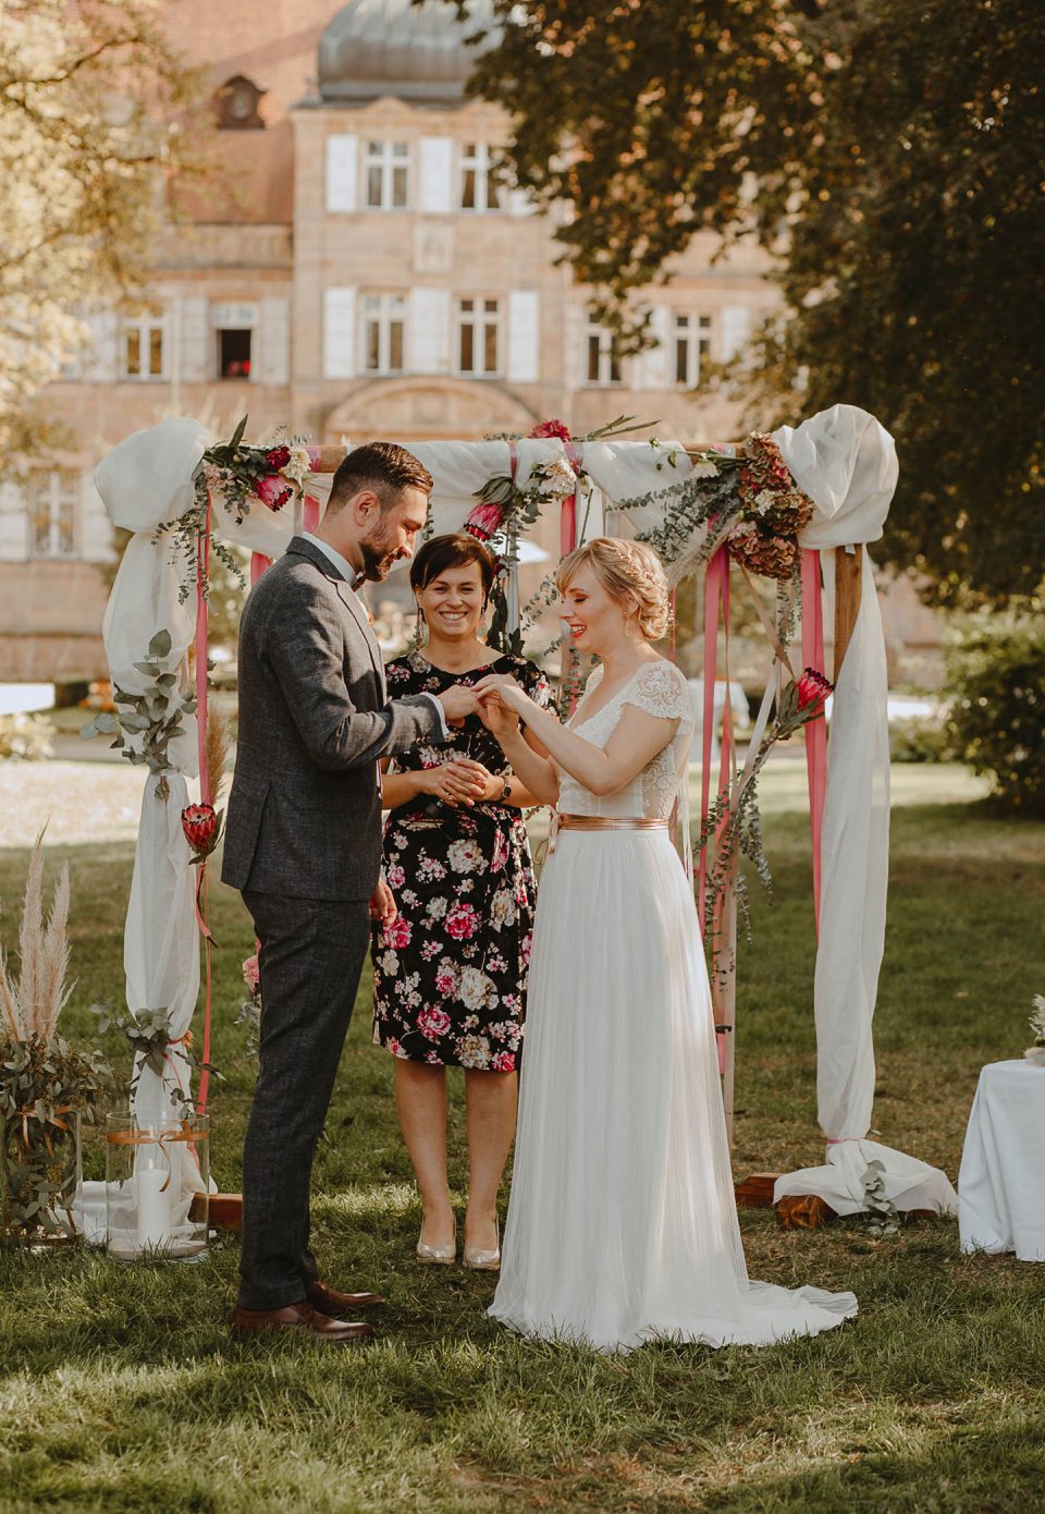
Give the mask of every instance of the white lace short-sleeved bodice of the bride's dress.
M 602 683 L 602 668 L 588 678 L 584 699 L 570 721 L 570 730 L 594 746 L 605 746 L 612 736 L 626 704 L 634 704 L 649 715 L 678 721 L 671 740 L 617 793 L 594 795 L 584 784 L 563 772 L 560 778 L 558 810 L 561 815 L 619 815 L 637 819 L 670 819 L 679 793 L 679 780 L 687 771 L 690 742 L 693 740 L 693 701 L 690 686 L 679 669 L 662 659 L 643 663 L 620 687 L 608 704 L 590 718 L 584 707 Z

